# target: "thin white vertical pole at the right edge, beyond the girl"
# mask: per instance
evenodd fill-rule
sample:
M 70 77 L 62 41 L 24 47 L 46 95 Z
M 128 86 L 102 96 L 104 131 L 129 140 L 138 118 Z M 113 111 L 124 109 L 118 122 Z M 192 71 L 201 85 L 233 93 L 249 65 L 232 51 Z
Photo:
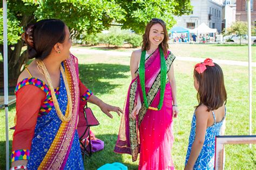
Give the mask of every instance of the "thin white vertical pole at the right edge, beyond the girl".
M 248 59 L 249 59 L 249 121 L 250 135 L 252 135 L 252 35 L 251 35 L 251 2 L 247 1 L 247 23 L 248 23 Z M 251 0 L 252 1 L 252 0 Z M 252 148 L 252 144 L 249 145 Z

